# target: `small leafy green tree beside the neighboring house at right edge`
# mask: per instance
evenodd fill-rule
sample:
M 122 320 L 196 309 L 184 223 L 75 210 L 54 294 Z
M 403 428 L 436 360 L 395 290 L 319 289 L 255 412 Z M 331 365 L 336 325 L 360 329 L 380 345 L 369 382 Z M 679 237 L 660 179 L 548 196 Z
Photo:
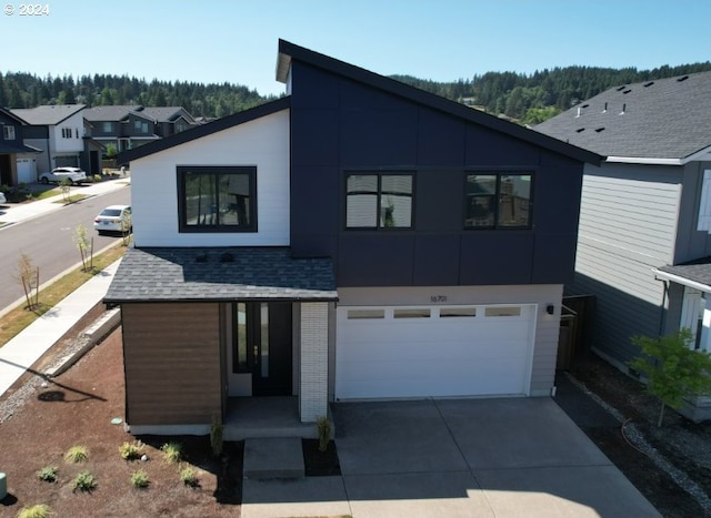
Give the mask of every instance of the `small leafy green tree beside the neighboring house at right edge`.
M 679 409 L 684 397 L 711 392 L 711 356 L 691 347 L 689 329 L 659 338 L 634 336 L 632 343 L 642 355 L 630 367 L 647 376 L 648 390 L 662 402 L 657 426 L 662 426 L 667 406 Z

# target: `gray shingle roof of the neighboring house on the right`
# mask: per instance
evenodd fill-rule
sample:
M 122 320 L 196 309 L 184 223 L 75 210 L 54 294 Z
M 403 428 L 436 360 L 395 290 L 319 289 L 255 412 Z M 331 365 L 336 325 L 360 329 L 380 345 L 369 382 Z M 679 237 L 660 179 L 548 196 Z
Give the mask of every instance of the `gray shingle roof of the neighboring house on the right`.
M 711 72 L 611 88 L 534 129 L 605 156 L 681 160 L 711 146 Z

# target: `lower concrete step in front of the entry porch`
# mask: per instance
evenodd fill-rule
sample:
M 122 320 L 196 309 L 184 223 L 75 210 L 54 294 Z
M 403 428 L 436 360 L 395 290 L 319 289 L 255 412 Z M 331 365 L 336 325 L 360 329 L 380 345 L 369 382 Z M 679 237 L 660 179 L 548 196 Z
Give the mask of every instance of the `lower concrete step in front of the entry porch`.
M 304 477 L 300 437 L 244 439 L 244 478 L 256 480 Z

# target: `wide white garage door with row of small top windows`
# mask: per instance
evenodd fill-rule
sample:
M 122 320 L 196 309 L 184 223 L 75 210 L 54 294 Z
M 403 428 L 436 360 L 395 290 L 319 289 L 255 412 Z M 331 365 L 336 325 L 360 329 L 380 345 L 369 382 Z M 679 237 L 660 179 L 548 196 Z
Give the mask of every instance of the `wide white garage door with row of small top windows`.
M 535 305 L 338 308 L 336 397 L 528 395 Z

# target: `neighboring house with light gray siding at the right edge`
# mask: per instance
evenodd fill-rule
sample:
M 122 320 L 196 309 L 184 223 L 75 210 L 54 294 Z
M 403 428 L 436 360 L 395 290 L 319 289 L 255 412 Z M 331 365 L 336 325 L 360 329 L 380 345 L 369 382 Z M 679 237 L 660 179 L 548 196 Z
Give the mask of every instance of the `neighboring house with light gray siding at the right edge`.
M 535 128 L 608 156 L 585 167 L 570 292 L 595 296 L 594 351 L 624 372 L 633 335 L 688 327 L 711 352 L 710 99 L 711 72 L 644 81 Z

